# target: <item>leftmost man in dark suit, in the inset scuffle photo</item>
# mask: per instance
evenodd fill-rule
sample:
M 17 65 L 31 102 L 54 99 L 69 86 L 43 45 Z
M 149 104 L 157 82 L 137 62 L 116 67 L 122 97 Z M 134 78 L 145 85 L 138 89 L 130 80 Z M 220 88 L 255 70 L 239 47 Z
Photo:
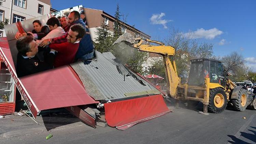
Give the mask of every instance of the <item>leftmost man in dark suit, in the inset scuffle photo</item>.
M 44 53 L 44 59 L 38 57 L 38 44 L 32 36 L 21 37 L 16 42 L 18 50 L 16 73 L 18 77 L 53 68 L 54 50 Z

